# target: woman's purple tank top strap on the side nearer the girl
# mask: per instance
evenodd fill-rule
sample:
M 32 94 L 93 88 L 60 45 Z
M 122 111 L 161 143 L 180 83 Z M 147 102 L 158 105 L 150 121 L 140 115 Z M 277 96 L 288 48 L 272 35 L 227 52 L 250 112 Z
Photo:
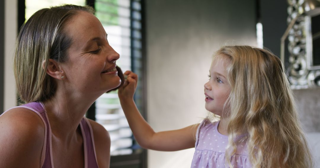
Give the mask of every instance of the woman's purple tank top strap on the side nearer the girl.
M 97 155 L 94 147 L 93 131 L 89 120 L 85 117 L 80 122 L 82 136 L 84 139 L 84 163 L 85 167 L 98 168 Z

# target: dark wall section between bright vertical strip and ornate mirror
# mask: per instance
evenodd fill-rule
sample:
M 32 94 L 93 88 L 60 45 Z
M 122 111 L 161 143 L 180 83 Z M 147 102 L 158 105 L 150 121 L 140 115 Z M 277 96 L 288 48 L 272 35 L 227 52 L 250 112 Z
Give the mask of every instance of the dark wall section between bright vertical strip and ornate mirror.
M 280 39 L 287 28 L 287 1 L 259 0 L 263 26 L 263 46 L 280 57 Z

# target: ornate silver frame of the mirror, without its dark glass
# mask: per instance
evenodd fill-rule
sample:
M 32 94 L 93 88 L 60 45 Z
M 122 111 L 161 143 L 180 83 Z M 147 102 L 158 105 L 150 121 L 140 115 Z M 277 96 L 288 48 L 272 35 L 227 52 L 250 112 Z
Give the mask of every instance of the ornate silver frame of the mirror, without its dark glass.
M 315 47 L 313 39 L 315 36 L 320 38 L 320 31 L 312 34 L 311 22 L 312 17 L 317 15 L 299 15 L 301 1 L 300 3 L 288 2 L 288 24 L 296 19 L 288 34 L 289 66 L 287 70 L 291 87 L 292 89 L 318 88 L 320 87 L 320 65 L 313 64 L 313 47 Z M 318 21 L 320 22 L 320 19 Z

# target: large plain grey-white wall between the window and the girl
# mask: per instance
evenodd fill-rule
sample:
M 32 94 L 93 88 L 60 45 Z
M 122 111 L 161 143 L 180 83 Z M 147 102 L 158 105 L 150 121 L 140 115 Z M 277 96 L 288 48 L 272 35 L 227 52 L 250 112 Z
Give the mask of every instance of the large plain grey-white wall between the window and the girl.
M 255 0 L 148 0 L 147 113 L 155 131 L 200 122 L 211 57 L 225 44 L 256 46 Z M 190 167 L 193 149 L 148 150 L 148 167 Z

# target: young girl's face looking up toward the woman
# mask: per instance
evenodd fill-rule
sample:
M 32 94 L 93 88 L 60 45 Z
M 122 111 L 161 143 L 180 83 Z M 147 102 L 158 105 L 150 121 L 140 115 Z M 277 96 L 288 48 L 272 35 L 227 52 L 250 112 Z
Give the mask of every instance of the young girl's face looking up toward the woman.
M 231 90 L 227 81 L 228 64 L 229 62 L 224 59 L 214 59 L 209 70 L 209 81 L 204 84 L 205 108 L 220 116 Z

